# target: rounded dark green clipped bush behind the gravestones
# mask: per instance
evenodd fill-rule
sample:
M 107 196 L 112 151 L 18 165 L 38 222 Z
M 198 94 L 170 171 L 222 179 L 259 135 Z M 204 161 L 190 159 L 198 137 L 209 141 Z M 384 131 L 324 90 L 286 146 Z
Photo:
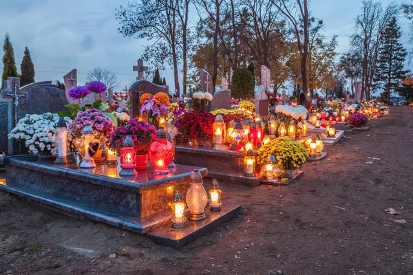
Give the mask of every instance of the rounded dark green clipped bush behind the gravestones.
M 231 82 L 231 94 L 233 98 L 253 98 L 254 76 L 248 69 L 235 69 Z

